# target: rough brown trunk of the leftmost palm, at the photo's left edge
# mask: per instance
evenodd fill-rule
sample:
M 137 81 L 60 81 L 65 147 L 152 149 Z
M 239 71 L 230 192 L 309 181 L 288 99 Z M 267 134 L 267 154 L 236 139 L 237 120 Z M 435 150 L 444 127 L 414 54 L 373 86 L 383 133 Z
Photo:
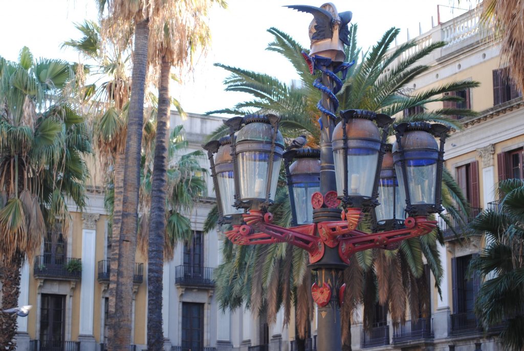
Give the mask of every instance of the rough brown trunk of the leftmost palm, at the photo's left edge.
M 12 309 L 18 306 L 18 296 L 20 295 L 20 268 L 24 260 L 24 255 L 17 251 L 12 259 L 4 258 L 2 265 L 2 308 L 0 310 Z M 13 341 L 17 330 L 17 315 L 0 312 L 0 349 L 16 350 L 16 343 Z

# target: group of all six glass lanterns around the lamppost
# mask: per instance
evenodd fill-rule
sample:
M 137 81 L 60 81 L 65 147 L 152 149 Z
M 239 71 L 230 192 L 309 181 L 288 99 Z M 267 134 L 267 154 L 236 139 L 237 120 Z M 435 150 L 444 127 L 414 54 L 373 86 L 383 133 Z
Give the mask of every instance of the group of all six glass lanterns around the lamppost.
M 321 194 L 320 150 L 284 150 L 275 115 L 233 117 L 230 136 L 208 142 L 220 223 L 241 224 L 250 211 L 267 213 L 275 201 L 282 159 L 292 225 L 315 221 L 332 209 L 340 218 L 350 209 L 373 212 L 375 231 L 403 227 L 406 217 L 441 211 L 443 145 L 449 130 L 423 122 L 394 126 L 396 142 L 386 139 L 392 118 L 366 110 L 341 112 L 333 131 L 336 192 Z M 439 143 L 435 137 L 440 139 Z M 233 142 L 232 142 L 233 141 Z M 317 216 L 318 217 L 318 216 Z

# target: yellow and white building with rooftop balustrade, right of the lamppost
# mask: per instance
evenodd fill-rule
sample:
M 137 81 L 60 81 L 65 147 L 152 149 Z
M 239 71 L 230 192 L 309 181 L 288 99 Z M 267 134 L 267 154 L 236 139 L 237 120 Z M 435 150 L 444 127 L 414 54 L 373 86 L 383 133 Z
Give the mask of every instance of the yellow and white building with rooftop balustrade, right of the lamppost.
M 462 120 L 464 129 L 452 130 L 445 144 L 445 165 L 472 206 L 469 213 L 462 213 L 466 223 L 483 209 L 497 205 L 495 187 L 499 180 L 524 176 L 522 94 L 501 62 L 499 43 L 489 38 L 486 29 L 479 25 L 479 13 L 477 7 L 413 39 L 418 44 L 416 49 L 440 40 L 447 45 L 421 62 L 430 64 L 432 69 L 408 87 L 410 92 L 418 92 L 456 80 L 481 83 L 475 89 L 452 93 L 463 97 L 463 102 L 424 106 L 471 108 L 479 112 L 477 117 L 455 116 Z M 464 238 L 459 223 L 452 221 L 449 227 L 444 221 L 439 222 L 445 238 L 445 245 L 440 246 L 444 276 L 441 296 L 433 288 L 432 276 L 428 282 L 432 291 L 431 315 L 394 327 L 387 311 L 377 309 L 372 331 L 364 332 L 362 323 L 351 327 L 354 350 L 502 349 L 497 342 L 499 326 L 493 326 L 484 334 L 474 313 L 475 294 L 481 279 L 468 275 L 467 267 L 471 258 L 482 250 L 482 233 Z

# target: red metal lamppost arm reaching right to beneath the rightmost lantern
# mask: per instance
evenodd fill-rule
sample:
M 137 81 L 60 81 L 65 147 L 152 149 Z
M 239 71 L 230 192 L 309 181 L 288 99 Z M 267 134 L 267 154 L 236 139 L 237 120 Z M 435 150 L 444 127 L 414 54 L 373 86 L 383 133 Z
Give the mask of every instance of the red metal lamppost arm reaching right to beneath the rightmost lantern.
M 390 248 L 392 244 L 401 242 L 412 237 L 428 234 L 436 227 L 436 221 L 430 221 L 427 217 L 406 218 L 406 228 L 397 231 L 366 234 L 361 231 L 352 231 L 349 237 L 340 239 L 339 256 L 349 264 L 350 257 L 357 251 L 371 248 Z

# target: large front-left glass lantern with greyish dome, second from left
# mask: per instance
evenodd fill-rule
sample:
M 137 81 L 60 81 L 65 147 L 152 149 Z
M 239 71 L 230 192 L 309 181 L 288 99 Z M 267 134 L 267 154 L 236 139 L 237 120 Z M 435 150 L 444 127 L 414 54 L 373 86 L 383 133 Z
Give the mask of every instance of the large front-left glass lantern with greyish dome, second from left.
M 238 200 L 272 203 L 277 191 L 284 140 L 275 115 L 246 115 L 236 132 Z

